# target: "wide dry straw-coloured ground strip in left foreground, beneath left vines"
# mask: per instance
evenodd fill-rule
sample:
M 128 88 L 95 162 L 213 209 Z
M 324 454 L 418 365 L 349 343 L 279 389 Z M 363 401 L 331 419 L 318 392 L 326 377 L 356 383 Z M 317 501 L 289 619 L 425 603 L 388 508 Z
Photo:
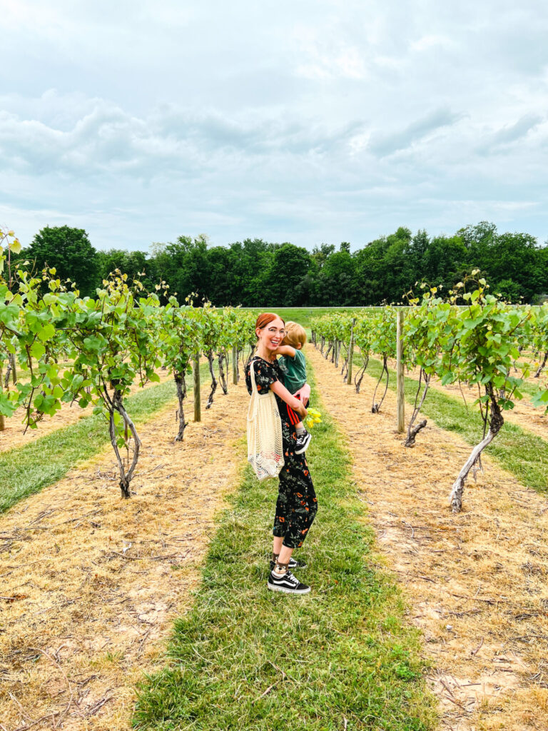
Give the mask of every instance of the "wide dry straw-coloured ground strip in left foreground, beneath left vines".
M 134 685 L 163 662 L 172 618 L 197 587 L 214 515 L 239 480 L 247 401 L 243 382 L 231 385 L 202 423 L 189 424 L 183 444 L 172 441 L 173 407 L 161 412 L 142 434 L 129 501 L 108 445 L 1 516 L 6 730 L 129 728 Z

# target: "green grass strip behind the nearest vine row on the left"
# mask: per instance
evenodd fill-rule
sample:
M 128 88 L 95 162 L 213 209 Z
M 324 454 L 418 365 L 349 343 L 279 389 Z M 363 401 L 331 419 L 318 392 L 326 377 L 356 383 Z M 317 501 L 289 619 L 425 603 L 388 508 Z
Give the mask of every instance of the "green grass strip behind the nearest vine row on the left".
M 202 383 L 208 381 L 207 364 L 200 366 L 200 376 Z M 192 378 L 187 381 L 189 390 L 192 390 Z M 219 390 L 220 387 L 217 398 Z M 151 420 L 156 412 L 176 398 L 175 383 L 169 380 L 137 391 L 125 403 L 128 413 L 138 425 Z M 174 436 L 176 433 L 174 420 Z M 109 442 L 108 424 L 104 417 L 91 415 L 23 447 L 0 452 L 0 513 L 26 496 L 61 480 L 69 469 L 96 455 Z

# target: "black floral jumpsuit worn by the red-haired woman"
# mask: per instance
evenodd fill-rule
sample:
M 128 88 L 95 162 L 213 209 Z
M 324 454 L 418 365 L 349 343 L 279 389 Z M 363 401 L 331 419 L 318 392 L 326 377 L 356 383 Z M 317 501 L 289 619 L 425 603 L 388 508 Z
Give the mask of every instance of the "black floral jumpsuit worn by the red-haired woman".
M 254 363 L 255 383 L 259 395 L 268 393 L 270 384 L 275 381 L 283 383 L 283 371 L 278 360 L 268 363 L 267 360 L 255 356 L 251 363 Z M 246 367 L 246 386 L 250 394 L 252 390 L 251 363 Z M 297 433 L 289 421 L 287 404 L 277 394 L 274 395 L 281 418 L 285 463 L 279 476 L 280 488 L 276 502 L 273 534 L 283 537 L 283 545 L 289 548 L 300 548 L 316 517 L 318 501 L 305 455 L 304 453 L 296 455 L 294 451 Z

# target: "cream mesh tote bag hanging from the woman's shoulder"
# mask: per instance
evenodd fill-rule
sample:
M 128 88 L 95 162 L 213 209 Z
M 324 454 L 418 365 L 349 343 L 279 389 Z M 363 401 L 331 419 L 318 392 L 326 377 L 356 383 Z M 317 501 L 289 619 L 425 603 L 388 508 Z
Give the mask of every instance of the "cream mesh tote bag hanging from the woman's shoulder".
M 278 477 L 283 467 L 283 444 L 278 404 L 272 390 L 259 395 L 255 363 L 251 363 L 251 401 L 248 409 L 248 462 L 259 480 Z

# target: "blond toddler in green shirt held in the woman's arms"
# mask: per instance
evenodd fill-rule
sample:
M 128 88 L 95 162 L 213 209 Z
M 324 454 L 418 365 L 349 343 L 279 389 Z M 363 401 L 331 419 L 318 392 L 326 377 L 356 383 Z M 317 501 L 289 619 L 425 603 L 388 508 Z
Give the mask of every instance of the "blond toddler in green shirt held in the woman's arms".
M 297 322 L 286 322 L 286 335 L 276 355 L 281 355 L 279 363 L 283 371 L 286 389 L 306 406 L 310 398 L 310 386 L 306 382 L 306 360 L 302 348 L 306 342 L 305 328 Z M 300 455 L 310 444 L 312 436 L 306 431 L 300 417 L 288 407 L 289 420 L 297 432 L 295 454 Z

